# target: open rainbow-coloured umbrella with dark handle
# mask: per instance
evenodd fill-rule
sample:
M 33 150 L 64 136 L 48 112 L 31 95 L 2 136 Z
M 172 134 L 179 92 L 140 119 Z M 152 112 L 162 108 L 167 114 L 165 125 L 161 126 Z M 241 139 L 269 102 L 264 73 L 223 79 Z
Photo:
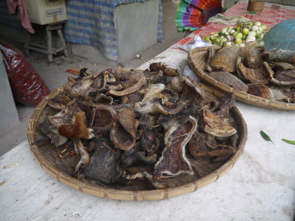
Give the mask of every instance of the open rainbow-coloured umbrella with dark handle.
M 209 18 L 224 12 L 223 5 L 224 0 L 181 0 L 175 18 L 178 32 L 199 29 Z

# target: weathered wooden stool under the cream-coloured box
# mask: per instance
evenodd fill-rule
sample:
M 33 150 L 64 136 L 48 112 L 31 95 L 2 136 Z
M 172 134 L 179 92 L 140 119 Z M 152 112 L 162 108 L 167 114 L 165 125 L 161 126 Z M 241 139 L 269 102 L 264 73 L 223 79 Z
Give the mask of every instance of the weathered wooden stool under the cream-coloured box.
M 50 23 L 47 24 L 45 27 L 46 30 L 46 44 L 42 44 L 42 42 L 30 42 L 30 33 L 28 31 L 25 32 L 25 39 L 24 39 L 24 48 L 26 49 L 26 54 L 30 54 L 30 50 L 37 51 L 37 52 L 42 52 L 47 54 L 48 56 L 48 61 L 52 62 L 53 61 L 53 54 L 56 52 L 63 51 L 66 57 L 68 57 L 68 47 L 65 44 L 65 39 L 63 38 L 63 33 L 61 29 L 63 28 L 63 23 L 65 21 L 61 22 L 56 22 L 56 23 Z M 56 30 L 58 34 L 58 38 L 60 39 L 61 42 L 61 47 L 59 48 L 53 48 L 52 47 L 52 35 L 51 31 Z

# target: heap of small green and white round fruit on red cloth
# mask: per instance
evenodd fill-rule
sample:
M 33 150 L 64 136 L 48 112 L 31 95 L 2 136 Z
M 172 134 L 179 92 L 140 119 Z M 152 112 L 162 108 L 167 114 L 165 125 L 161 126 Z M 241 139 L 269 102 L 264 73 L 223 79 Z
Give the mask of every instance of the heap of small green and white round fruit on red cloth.
M 210 44 L 245 47 L 248 42 L 261 40 L 267 29 L 266 24 L 260 22 L 239 22 L 237 27 L 224 27 L 219 33 L 211 32 L 210 36 L 202 37 Z

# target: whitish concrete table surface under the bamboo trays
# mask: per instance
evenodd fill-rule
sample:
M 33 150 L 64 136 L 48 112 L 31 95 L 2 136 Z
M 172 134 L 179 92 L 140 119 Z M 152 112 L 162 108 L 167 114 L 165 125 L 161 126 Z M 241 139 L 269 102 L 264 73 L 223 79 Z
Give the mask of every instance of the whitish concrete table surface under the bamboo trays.
M 149 62 L 160 61 L 183 70 L 187 52 L 167 49 Z M 236 105 L 248 140 L 235 166 L 195 192 L 165 200 L 122 201 L 79 192 L 42 169 L 25 141 L 0 158 L 0 182 L 7 180 L 0 187 L 1 220 L 294 220 L 295 145 L 281 139 L 295 140 L 295 111 Z

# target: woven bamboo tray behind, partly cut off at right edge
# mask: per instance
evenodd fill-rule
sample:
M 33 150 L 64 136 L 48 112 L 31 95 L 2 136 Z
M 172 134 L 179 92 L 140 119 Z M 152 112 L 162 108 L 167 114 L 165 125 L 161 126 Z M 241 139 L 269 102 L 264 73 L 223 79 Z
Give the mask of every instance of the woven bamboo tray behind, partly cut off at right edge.
M 196 75 L 198 75 L 201 78 L 201 80 L 203 80 L 206 84 L 212 86 L 213 88 L 225 94 L 234 92 L 236 100 L 242 101 L 250 105 L 278 110 L 295 110 L 295 103 L 268 100 L 265 98 L 250 95 L 248 93 L 236 90 L 235 88 L 222 84 L 219 81 L 214 80 L 212 77 L 207 75 L 204 70 L 206 67 L 207 50 L 209 47 L 206 46 L 194 48 L 188 53 L 189 66 L 191 67 L 191 70 L 193 70 L 196 73 Z M 212 48 L 213 50 L 218 50 L 221 48 L 221 46 L 212 46 Z

